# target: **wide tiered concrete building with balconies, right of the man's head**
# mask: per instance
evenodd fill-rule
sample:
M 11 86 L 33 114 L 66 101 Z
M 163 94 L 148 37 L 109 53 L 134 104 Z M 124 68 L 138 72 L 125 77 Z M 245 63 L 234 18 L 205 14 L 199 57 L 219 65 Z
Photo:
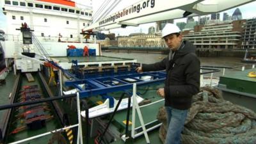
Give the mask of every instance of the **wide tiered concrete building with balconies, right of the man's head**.
M 196 48 L 237 49 L 241 47 L 241 32 L 245 20 L 207 24 L 198 32 L 189 32 L 184 40 L 192 42 Z

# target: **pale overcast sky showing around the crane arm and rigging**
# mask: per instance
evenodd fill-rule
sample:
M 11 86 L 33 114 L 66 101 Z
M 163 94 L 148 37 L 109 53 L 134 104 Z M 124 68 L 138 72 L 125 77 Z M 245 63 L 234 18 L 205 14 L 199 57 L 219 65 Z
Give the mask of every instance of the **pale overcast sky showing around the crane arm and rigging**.
M 76 0 L 78 3 L 83 3 L 84 1 L 88 0 Z M 90 1 L 90 0 L 89 0 Z M 113 1 L 113 0 L 111 0 Z M 129 1 L 122 1 L 121 3 L 118 3 L 115 8 L 111 10 L 111 13 L 115 13 L 119 10 L 122 10 L 123 8 L 130 6 L 131 4 L 136 3 L 138 0 L 129 0 Z M 0 0 L 0 3 L 3 3 L 3 0 Z M 93 6 L 93 12 L 96 12 L 101 4 L 104 3 L 103 0 L 92 0 L 92 6 Z M 256 1 L 248 4 L 244 4 L 243 6 L 238 7 L 242 13 L 243 19 L 251 19 L 253 17 L 256 17 Z M 227 10 L 225 12 L 228 13 L 228 15 L 232 15 L 232 13 L 236 10 L 236 8 L 232 8 L 230 10 Z M 221 19 L 222 19 L 223 12 L 221 12 Z M 197 20 L 197 19 L 195 19 Z M 174 20 L 174 22 L 186 22 L 186 19 L 177 19 Z M 141 24 L 138 27 L 127 27 L 125 29 L 112 29 L 111 33 L 116 33 L 116 35 L 129 35 L 130 33 L 138 33 L 142 31 L 143 33 L 148 33 L 148 28 L 150 26 L 155 26 L 154 23 L 150 24 Z M 2 8 L 0 8 L 0 29 L 5 30 L 6 27 L 6 18 L 3 15 Z

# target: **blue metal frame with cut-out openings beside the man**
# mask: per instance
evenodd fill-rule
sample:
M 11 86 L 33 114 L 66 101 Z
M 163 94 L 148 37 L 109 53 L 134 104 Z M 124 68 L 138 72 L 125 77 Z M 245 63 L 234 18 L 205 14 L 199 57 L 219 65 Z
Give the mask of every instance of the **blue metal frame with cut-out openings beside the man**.
M 152 76 L 153 79 L 150 81 L 143 81 L 141 77 Z M 133 82 L 129 82 L 125 79 L 132 79 Z M 106 95 L 106 93 L 124 91 L 127 89 L 132 89 L 133 83 L 138 86 L 161 83 L 166 79 L 166 72 L 143 72 L 141 74 L 134 72 L 126 72 L 125 74 L 118 74 L 115 76 L 105 76 L 105 77 L 92 77 L 83 80 L 67 81 L 66 86 L 74 86 L 79 90 L 80 98 L 92 97 L 93 95 Z M 116 84 L 115 84 L 115 83 Z M 78 84 L 85 84 L 85 88 L 81 88 Z

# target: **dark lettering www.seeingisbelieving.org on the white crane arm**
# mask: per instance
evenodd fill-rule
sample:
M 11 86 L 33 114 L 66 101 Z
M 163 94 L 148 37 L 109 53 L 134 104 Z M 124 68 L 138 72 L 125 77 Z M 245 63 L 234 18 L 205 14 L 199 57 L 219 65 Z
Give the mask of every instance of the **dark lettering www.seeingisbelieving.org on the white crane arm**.
M 107 19 L 101 20 L 99 22 L 99 25 L 102 24 L 106 24 L 107 22 L 115 22 L 116 19 L 120 18 L 120 17 L 124 17 L 125 15 L 129 15 L 130 13 L 140 13 L 140 10 L 142 10 L 143 8 L 154 8 L 155 6 L 155 0 L 147 0 L 144 1 L 143 3 L 137 4 L 136 6 L 131 6 L 130 8 L 125 8 L 122 12 L 118 12 L 115 13 L 115 15 L 111 15 L 110 17 L 108 17 Z

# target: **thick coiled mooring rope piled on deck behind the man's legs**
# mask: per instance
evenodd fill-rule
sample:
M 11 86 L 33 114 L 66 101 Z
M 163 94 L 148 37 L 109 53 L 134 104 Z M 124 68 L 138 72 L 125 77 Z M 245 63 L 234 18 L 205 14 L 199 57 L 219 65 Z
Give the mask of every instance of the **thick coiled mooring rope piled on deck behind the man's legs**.
M 159 138 L 166 136 L 166 112 L 159 109 L 158 120 L 163 122 Z M 193 104 L 182 131 L 182 144 L 255 144 L 256 113 L 224 100 L 218 90 L 202 88 L 193 96 Z

